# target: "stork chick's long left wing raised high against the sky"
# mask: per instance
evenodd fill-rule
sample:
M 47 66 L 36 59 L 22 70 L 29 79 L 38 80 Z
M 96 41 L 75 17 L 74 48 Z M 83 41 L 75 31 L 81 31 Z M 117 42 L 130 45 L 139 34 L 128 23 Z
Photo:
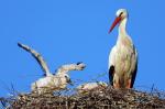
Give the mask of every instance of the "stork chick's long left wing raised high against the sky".
M 21 43 L 18 43 L 19 47 L 22 47 L 23 50 L 25 50 L 26 52 L 31 53 L 32 56 L 37 61 L 37 63 L 40 64 L 42 70 L 45 73 L 45 76 L 50 76 L 52 75 L 50 73 L 48 66 L 46 64 L 46 62 L 44 61 L 44 58 L 40 55 L 40 53 L 37 53 L 36 51 L 30 48 L 28 45 L 23 45 Z

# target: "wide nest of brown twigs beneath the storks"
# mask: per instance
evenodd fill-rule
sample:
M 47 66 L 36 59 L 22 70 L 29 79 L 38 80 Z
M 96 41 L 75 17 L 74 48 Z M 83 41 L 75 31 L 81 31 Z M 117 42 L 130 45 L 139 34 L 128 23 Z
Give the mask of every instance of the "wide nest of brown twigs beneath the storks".
M 69 90 L 70 91 L 70 90 Z M 66 92 L 64 92 L 66 94 Z M 112 87 L 95 89 L 85 94 L 57 92 L 19 94 L 1 99 L 8 109 L 155 109 L 165 108 L 165 95 L 133 89 L 117 90 Z M 7 106 L 8 103 L 8 106 Z

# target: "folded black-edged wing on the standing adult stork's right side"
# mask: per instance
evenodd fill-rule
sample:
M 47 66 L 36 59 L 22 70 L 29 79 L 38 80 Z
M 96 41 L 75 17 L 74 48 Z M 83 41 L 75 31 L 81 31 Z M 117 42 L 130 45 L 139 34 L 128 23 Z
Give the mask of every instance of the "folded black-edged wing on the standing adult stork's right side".
M 138 72 L 138 52 L 134 48 L 134 54 L 132 56 L 132 65 L 131 65 L 131 74 L 132 74 L 131 88 L 134 85 L 134 80 L 135 80 L 135 77 L 136 77 L 136 72 Z

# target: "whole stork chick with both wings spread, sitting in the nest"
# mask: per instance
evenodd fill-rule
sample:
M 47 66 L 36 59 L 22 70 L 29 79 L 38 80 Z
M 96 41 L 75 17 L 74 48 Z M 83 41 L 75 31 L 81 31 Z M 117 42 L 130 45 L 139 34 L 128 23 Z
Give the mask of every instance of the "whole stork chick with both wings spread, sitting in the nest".
M 68 73 L 70 70 L 82 70 L 86 67 L 84 63 L 67 64 L 67 65 L 61 66 L 55 73 L 55 75 L 53 75 L 50 72 L 50 68 L 46 62 L 36 51 L 21 43 L 18 43 L 18 45 L 22 47 L 23 50 L 30 52 L 32 56 L 38 62 L 41 68 L 44 72 L 45 77 L 37 79 L 31 85 L 32 92 L 53 94 L 53 91 L 66 89 L 67 85 L 72 84 Z

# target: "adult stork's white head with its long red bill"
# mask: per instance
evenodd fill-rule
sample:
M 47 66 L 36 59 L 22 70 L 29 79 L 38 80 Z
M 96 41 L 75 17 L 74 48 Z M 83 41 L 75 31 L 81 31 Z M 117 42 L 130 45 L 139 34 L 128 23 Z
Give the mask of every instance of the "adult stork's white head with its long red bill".
M 114 26 L 120 23 L 123 19 L 128 18 L 128 11 L 125 9 L 119 9 L 116 13 L 117 18 L 112 23 L 109 33 L 114 29 Z

